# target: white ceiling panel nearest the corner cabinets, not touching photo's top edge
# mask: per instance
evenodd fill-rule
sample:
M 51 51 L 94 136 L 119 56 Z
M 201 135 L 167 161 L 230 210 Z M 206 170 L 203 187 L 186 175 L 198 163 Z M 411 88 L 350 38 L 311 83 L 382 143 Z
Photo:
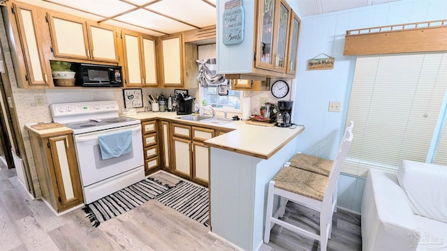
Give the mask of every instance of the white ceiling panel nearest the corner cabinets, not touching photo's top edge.
M 182 24 L 181 22 L 151 13 L 145 9 L 135 10 L 131 13 L 120 15 L 115 17 L 115 20 L 136 24 L 138 26 L 147 27 L 168 34 L 194 29 L 193 26 Z

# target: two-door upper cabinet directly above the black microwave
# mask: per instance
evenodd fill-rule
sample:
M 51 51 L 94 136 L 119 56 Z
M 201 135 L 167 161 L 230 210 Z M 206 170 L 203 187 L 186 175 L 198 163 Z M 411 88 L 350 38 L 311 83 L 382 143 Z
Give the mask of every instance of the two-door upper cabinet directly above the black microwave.
M 55 57 L 118 62 L 117 33 L 111 26 L 47 13 Z

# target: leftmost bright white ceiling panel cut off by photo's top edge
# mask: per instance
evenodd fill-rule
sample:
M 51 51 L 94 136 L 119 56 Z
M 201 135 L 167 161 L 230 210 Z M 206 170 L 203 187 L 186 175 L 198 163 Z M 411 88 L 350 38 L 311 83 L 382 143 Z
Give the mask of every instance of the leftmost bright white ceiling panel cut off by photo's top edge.
M 89 13 L 95 13 L 103 17 L 112 17 L 119 13 L 123 13 L 126 10 L 131 10 L 135 8 L 129 3 L 124 3 L 123 1 L 91 1 L 91 0 L 48 0 L 52 3 L 59 3 L 64 6 L 69 6 L 71 8 L 77 8 L 79 10 L 85 10 Z M 112 4 L 111 4 L 112 3 Z

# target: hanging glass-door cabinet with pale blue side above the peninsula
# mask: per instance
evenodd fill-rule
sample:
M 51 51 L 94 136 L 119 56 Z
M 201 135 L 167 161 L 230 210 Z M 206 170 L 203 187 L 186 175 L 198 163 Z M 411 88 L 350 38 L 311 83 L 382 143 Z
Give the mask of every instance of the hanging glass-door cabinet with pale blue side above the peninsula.
M 224 1 L 217 3 L 218 72 L 233 78 L 238 78 L 237 74 L 294 78 L 295 71 L 288 70 L 288 62 L 296 62 L 296 50 L 291 50 L 298 44 L 300 20 L 288 3 L 285 0 L 243 1 L 241 22 L 234 21 L 240 18 L 238 6 L 232 7 L 226 10 Z M 294 20 L 298 20 L 295 35 L 291 25 Z M 224 44 L 224 40 L 237 37 L 241 30 L 238 25 L 243 25 L 242 42 Z

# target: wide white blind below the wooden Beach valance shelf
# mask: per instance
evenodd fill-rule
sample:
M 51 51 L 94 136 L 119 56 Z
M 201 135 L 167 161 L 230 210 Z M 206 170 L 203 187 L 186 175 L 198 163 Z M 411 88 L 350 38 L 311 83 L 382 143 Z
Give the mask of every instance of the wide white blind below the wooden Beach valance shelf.
M 354 139 L 342 172 L 366 176 L 400 162 L 425 162 L 447 89 L 446 53 L 362 56 L 346 121 Z

